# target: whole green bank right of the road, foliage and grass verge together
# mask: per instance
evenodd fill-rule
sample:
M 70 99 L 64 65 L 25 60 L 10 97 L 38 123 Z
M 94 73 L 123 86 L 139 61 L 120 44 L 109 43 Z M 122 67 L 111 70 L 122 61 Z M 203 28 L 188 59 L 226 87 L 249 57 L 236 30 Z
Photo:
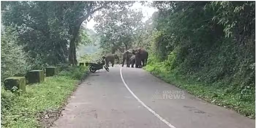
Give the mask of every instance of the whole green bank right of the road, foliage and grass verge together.
M 255 1 L 154 1 L 153 7 L 159 11 L 147 70 L 255 118 Z

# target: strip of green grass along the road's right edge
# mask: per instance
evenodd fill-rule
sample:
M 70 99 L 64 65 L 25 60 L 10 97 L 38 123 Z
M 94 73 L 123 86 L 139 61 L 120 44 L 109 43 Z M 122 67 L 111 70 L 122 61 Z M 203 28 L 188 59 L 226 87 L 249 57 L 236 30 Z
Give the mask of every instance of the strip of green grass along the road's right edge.
M 148 64 L 143 69 L 209 103 L 233 109 L 244 116 L 255 119 L 255 101 L 243 100 L 240 98 L 239 93 L 229 93 L 231 89 L 228 87 L 220 88 L 217 86 L 220 82 L 215 82 L 212 85 L 199 83 L 195 79 L 176 75 L 172 71 L 166 71 L 163 67 L 162 63 Z M 255 97 L 255 93 L 251 97 Z

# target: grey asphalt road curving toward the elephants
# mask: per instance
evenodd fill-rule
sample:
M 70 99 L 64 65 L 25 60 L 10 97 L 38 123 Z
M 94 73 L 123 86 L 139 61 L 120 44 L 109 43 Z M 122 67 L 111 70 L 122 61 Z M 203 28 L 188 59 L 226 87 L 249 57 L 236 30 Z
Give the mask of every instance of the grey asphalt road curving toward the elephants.
M 127 67 L 90 74 L 62 114 L 52 128 L 255 128 L 255 120 Z

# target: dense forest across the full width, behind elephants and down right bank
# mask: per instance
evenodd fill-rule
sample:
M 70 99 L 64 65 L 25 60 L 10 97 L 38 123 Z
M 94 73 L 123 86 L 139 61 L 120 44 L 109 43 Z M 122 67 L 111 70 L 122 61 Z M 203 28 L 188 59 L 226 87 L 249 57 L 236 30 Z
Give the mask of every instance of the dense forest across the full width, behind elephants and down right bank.
M 158 10 L 146 22 L 134 2 L 1 2 L 2 80 L 141 47 L 147 71 L 255 118 L 255 1 L 141 1 Z

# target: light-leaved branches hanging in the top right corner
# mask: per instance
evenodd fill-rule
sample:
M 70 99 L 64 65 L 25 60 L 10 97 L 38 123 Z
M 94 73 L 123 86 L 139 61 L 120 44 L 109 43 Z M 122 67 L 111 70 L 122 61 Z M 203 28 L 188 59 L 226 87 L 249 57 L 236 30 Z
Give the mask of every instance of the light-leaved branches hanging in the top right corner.
M 255 34 L 255 2 L 212 1 L 206 5 L 206 10 L 208 8 L 216 10 L 212 20 L 223 25 L 225 37 L 234 36 L 244 40 Z

